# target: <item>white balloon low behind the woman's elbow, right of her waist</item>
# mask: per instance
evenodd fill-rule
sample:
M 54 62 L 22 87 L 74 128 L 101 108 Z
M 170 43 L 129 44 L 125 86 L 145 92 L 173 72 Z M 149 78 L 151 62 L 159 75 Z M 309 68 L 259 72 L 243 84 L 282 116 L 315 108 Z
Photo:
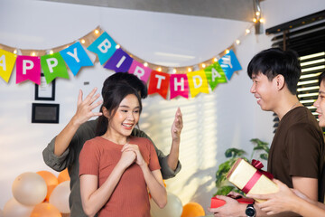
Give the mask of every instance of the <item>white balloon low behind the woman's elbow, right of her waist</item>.
M 163 209 L 150 199 L 150 213 L 153 217 L 180 217 L 182 204 L 180 198 L 173 193 L 167 193 L 167 204 Z

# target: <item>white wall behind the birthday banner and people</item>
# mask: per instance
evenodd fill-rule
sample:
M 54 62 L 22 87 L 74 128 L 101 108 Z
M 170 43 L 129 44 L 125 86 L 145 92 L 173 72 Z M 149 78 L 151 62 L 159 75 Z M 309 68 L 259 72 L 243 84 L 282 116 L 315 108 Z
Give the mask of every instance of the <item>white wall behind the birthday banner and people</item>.
M 299 2 L 299 3 L 297 3 Z M 283 10 L 282 5 L 296 8 Z M 299 6 L 298 6 L 299 5 Z M 262 2 L 265 28 L 324 9 L 323 0 L 268 0 Z M 42 1 L 0 0 L 0 43 L 21 49 L 51 49 L 73 42 L 100 25 L 116 42 L 145 61 L 185 66 L 205 61 L 222 52 L 242 36 L 250 24 L 223 19 L 67 5 Z M 169 152 L 170 127 L 181 107 L 184 127 L 181 137 L 182 170 L 166 182 L 168 191 L 183 204 L 198 202 L 205 209 L 216 192 L 218 164 L 228 147 L 250 152 L 249 139 L 271 142 L 272 114 L 263 112 L 249 93 L 251 80 L 246 66 L 256 52 L 270 47 L 271 36 L 249 34 L 236 47 L 243 71 L 227 84 L 194 99 L 144 99 L 141 127 L 157 146 Z M 157 52 L 190 56 L 171 58 Z M 14 178 L 24 172 L 49 170 L 42 161 L 42 149 L 67 124 L 76 109 L 78 90 L 101 89 L 113 71 L 99 63 L 70 79 L 57 79 L 55 103 L 60 104 L 60 124 L 31 124 L 34 85 L 0 80 L 0 209 L 12 197 Z M 83 85 L 89 81 L 89 85 Z M 46 101 L 43 101 L 48 103 Z

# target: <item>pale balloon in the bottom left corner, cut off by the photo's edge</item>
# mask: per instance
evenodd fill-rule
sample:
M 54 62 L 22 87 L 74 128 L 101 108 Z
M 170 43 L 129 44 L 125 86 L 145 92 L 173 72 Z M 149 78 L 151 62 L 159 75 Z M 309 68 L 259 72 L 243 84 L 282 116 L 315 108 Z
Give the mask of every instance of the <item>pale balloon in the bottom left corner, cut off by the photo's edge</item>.
M 26 206 L 17 202 L 14 197 L 5 203 L 4 217 L 30 217 L 34 206 Z

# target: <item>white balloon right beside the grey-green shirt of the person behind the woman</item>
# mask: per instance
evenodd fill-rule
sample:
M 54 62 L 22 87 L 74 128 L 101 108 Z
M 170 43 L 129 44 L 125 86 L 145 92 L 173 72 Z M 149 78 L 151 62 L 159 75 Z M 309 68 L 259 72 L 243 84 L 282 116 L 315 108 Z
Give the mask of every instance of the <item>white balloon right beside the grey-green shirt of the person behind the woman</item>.
M 60 183 L 50 195 L 49 203 L 54 205 L 62 213 L 70 213 L 69 206 L 70 181 Z

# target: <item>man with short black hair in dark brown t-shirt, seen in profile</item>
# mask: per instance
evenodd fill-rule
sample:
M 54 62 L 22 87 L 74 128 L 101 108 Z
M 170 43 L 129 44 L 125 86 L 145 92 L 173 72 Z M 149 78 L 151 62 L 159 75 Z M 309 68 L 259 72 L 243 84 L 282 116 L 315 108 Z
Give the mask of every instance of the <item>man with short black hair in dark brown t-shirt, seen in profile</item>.
M 324 140 L 311 111 L 304 108 L 296 97 L 301 75 L 297 54 L 277 48 L 259 52 L 249 62 L 247 73 L 253 80 L 250 91 L 257 104 L 263 110 L 273 111 L 280 119 L 269 153 L 268 171 L 274 178 L 298 189 L 311 200 L 322 202 Z M 209 209 L 215 216 L 246 215 L 245 204 L 226 196 L 218 198 L 227 203 Z M 266 215 L 257 206 L 254 208 L 256 216 Z

